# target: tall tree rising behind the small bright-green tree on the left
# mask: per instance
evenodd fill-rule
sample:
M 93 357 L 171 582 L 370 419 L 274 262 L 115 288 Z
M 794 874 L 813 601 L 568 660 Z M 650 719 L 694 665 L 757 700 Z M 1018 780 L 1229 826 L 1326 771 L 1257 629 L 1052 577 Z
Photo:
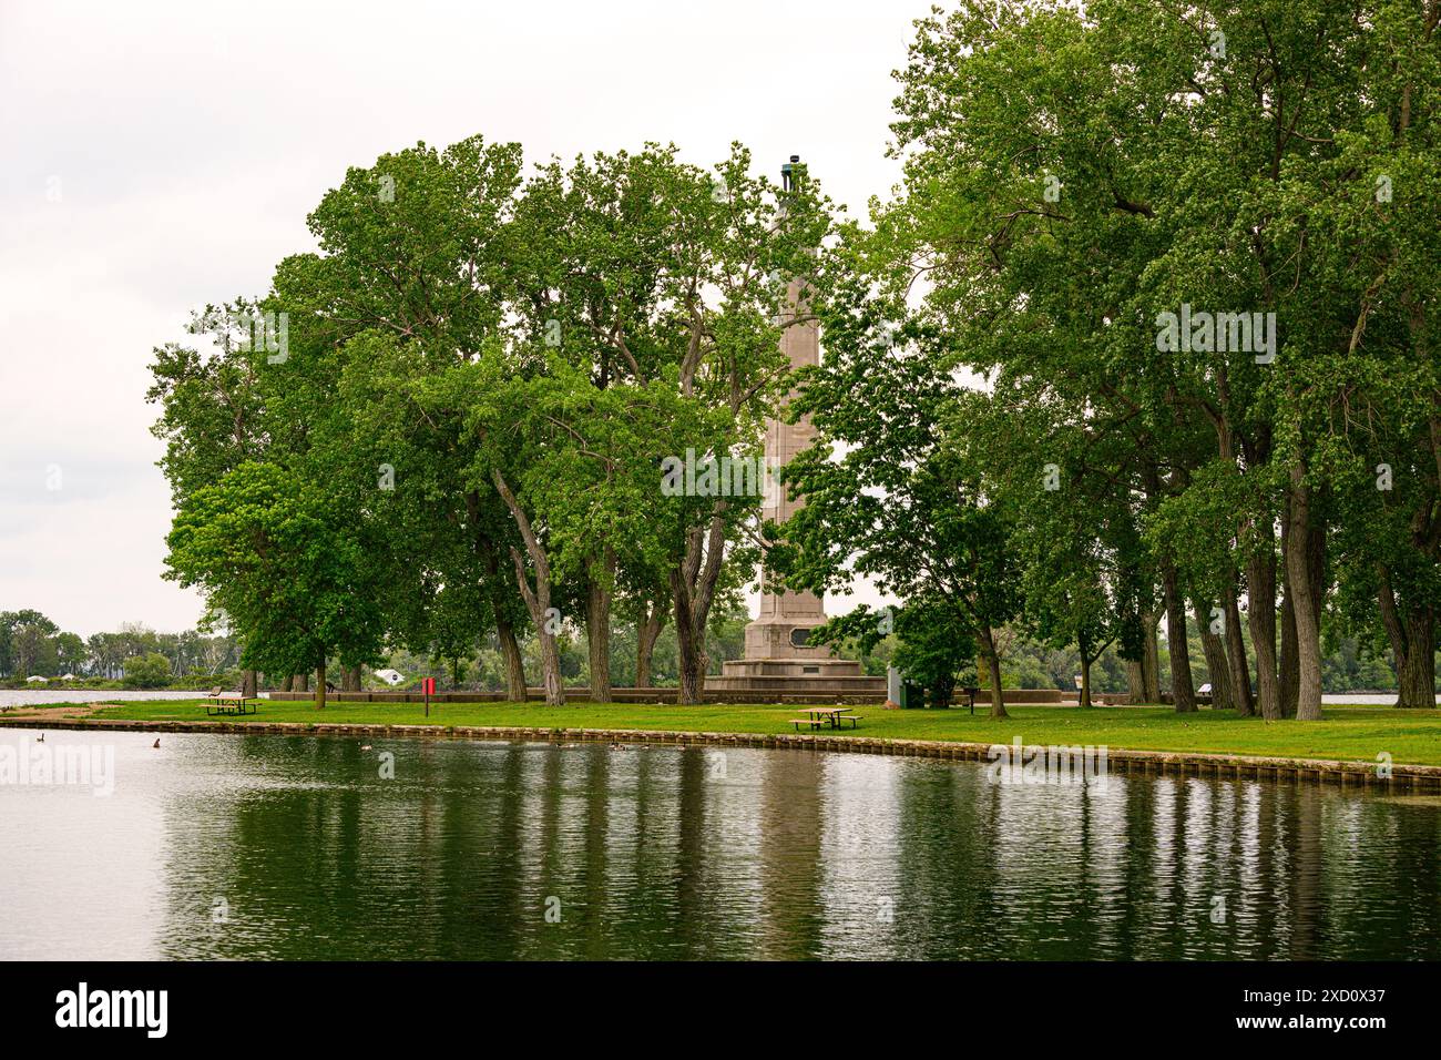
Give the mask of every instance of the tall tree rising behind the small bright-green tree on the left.
M 310 215 L 320 252 L 282 261 L 268 300 L 291 320 L 294 356 L 277 378 L 300 405 L 295 423 L 326 411 L 326 433 L 307 428 L 304 441 L 314 473 L 350 483 L 349 503 L 365 513 L 392 635 L 454 656 L 494 630 L 517 701 L 525 609 L 509 548 L 519 536 L 491 485 L 467 479 L 467 410 L 435 397 L 497 340 L 520 163 L 519 144 L 470 137 L 349 170 Z

